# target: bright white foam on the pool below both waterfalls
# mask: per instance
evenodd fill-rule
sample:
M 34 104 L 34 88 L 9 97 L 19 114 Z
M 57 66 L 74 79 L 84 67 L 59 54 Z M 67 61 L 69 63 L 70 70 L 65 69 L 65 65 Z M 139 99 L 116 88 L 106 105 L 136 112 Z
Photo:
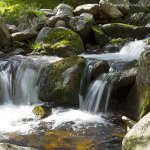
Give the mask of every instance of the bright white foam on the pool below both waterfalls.
M 1 105 L 0 106 L 0 134 L 9 132 L 21 132 L 22 134 L 29 134 L 40 127 L 41 122 L 47 123 L 48 129 L 57 129 L 68 122 L 73 122 L 71 127 L 80 129 L 83 126 L 89 127 L 94 124 L 106 123 L 100 114 L 92 115 L 89 112 L 83 112 L 75 109 L 52 109 L 52 115 L 42 119 L 36 120 L 32 109 L 34 106 L 23 105 Z

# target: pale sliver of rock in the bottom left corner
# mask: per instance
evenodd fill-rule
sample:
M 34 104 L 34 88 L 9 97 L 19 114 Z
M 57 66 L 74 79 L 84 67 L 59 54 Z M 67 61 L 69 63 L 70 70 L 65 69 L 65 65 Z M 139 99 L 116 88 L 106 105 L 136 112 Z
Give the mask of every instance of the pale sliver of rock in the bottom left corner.
M 8 143 L 0 143 L 0 150 L 37 150 L 30 147 L 22 147 Z

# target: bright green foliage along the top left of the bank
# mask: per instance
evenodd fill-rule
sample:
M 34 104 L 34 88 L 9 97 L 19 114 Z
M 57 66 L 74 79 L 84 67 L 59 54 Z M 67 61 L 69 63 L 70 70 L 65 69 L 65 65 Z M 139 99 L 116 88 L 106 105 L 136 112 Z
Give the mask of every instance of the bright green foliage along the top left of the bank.
M 74 7 L 91 3 L 90 0 L 2 0 L 0 2 L 0 16 L 8 23 L 17 24 L 18 21 L 28 13 L 34 12 L 36 15 L 41 15 L 38 10 L 40 8 L 53 9 L 60 3 L 70 4 Z M 93 0 L 92 3 L 98 3 L 98 0 Z

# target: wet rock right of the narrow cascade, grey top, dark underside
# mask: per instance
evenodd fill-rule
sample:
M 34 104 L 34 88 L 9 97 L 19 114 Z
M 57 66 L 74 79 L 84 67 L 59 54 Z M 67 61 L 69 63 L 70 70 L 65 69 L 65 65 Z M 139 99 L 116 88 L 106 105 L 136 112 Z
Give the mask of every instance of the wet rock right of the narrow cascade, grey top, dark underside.
M 119 80 L 115 82 L 117 88 L 123 88 L 128 85 L 133 85 L 136 81 L 137 68 L 125 70 L 121 73 Z

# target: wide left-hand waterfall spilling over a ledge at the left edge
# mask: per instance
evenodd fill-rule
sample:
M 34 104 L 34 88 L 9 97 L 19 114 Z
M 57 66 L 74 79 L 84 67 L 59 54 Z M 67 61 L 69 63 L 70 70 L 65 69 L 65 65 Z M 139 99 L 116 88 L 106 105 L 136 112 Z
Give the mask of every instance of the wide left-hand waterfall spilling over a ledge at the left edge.
M 0 102 L 35 104 L 44 68 L 60 58 L 13 56 L 0 61 Z

